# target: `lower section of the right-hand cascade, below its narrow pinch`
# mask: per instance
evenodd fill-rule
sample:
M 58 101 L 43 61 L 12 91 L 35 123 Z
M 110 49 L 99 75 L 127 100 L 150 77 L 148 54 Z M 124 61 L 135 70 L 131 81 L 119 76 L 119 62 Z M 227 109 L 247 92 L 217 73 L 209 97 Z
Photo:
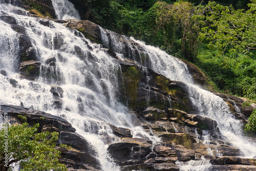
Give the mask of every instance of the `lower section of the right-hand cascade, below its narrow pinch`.
M 244 134 L 243 123 L 234 118 L 222 98 L 197 86 L 190 85 L 191 101 L 198 108 L 199 114 L 217 121 L 221 135 L 241 151 L 241 156 L 253 158 L 256 154 L 256 143 Z

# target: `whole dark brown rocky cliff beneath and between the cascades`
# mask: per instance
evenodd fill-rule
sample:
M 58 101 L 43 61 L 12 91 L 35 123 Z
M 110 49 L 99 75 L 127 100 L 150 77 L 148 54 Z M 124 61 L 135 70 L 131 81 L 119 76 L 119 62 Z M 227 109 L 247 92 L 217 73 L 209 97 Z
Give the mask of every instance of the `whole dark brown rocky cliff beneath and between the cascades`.
M 51 1 L 31 1 L 30 3 L 41 5 L 46 12 L 55 16 Z M 31 4 L 22 3 L 20 6 L 28 9 Z M 16 11 L 16 13 L 18 12 Z M 31 16 L 29 13 L 24 13 L 24 15 Z M 190 162 L 192 167 L 193 164 L 196 166 L 201 162 L 201 165 L 208 165 L 211 170 L 256 169 L 256 160 L 240 158 L 240 149 L 234 147 L 222 136 L 216 120 L 201 115 L 194 99 L 190 97 L 189 84 L 171 80 L 155 71 L 150 55 L 137 41 L 102 29 L 88 20 L 56 20 L 38 17 L 34 13 L 32 16 L 42 26 L 54 28 L 52 22 L 60 23 L 62 26 L 70 28 L 70 32 L 77 38 L 83 38 L 83 44 L 88 49 L 87 54 L 84 55 L 83 49 L 78 45 L 74 47 L 74 51 L 71 51 L 78 56 L 79 60 L 86 62 L 98 60 L 95 57 L 95 51 L 100 51 L 118 65 L 118 70 L 114 72 L 117 75 L 117 79 L 114 81 L 119 85 L 116 99 L 129 108 L 130 115 L 134 117 L 133 121 L 137 122 L 134 125 L 140 125 L 138 129 L 144 130 L 145 135 L 138 136 L 135 130 L 127 128 L 128 126 L 121 127 L 109 122 L 105 122 L 103 127 L 109 127 L 111 133 L 101 133 L 102 123 L 98 121 L 91 121 L 90 128 L 84 123 L 83 131 L 103 137 L 105 145 L 108 145 L 111 160 L 118 165 L 120 170 L 179 170 L 184 165 L 183 162 L 187 162 L 187 165 Z M 65 106 L 65 100 L 67 100 L 65 90 L 68 89 L 61 88 L 62 85 L 65 86 L 62 79 L 65 75 L 61 75 L 59 69 L 62 63 L 69 59 L 56 55 L 39 60 L 38 49 L 35 47 L 35 42 L 31 40 L 30 32 L 26 30 L 26 27 L 20 25 L 15 17 L 8 14 L 1 14 L 0 19 L 10 24 L 10 27 L 17 32 L 19 44 L 19 60 L 14 69 L 17 73 L 19 72 L 19 76 L 15 79 L 10 78 L 8 71 L 1 70 L 2 80 L 8 85 L 10 84 L 14 90 L 24 88 L 20 80 L 30 80 L 31 91 L 32 89 L 40 91 L 40 84 L 37 81 L 44 72 L 43 80 L 49 85 L 47 87 L 49 90 L 44 89 L 44 93 L 52 95 L 52 100 L 48 105 L 52 106 L 50 109 L 60 113 L 58 116 L 53 116 L 40 110 L 24 108 L 24 104 L 21 103 L 20 106 L 0 105 L 1 114 L 8 113 L 9 121 L 13 124 L 21 123 L 17 115 L 22 114 L 30 125 L 39 122 L 40 132 L 59 132 L 58 143 L 72 146 L 70 151 L 57 147 L 62 153 L 62 158 L 59 161 L 65 163 L 69 170 L 108 170 L 108 168 L 102 168 L 99 154 L 95 151 L 93 144 L 88 142 L 86 137 L 76 133 L 76 129 L 72 127 L 71 123 L 59 117 L 62 116 L 61 112 L 72 111 L 71 108 Z M 48 45 L 46 41 L 45 45 Z M 61 54 L 62 51 L 68 49 L 67 47 L 67 49 L 63 48 L 65 45 L 64 38 L 59 35 L 54 36 L 51 50 Z M 96 50 L 95 47 L 97 47 Z M 175 60 L 181 62 L 179 59 Z M 187 66 L 186 70 L 192 75 L 192 81 L 205 88 L 207 78 L 204 74 L 191 63 L 183 62 Z M 97 73 L 97 66 L 94 65 L 94 67 L 96 68 L 94 74 L 102 75 L 102 73 Z M 100 77 L 98 75 L 97 77 Z M 88 75 L 84 82 L 86 82 L 86 86 L 89 85 L 90 90 L 94 90 L 96 89 L 95 84 L 90 77 L 92 75 Z M 52 84 L 53 80 L 58 80 L 58 86 Z M 102 79 L 99 80 L 101 80 L 99 82 L 102 87 L 102 97 L 104 96 L 106 101 L 111 103 L 113 98 L 108 91 L 108 85 L 104 84 Z M 248 106 L 242 108 L 244 99 L 220 93 L 215 94 L 228 104 L 234 118 L 239 122 L 246 122 L 253 108 Z M 81 117 L 86 115 L 84 113 L 85 108 L 88 108 L 87 101 L 81 96 L 76 96 L 75 101 Z M 42 120 L 40 117 L 45 117 L 45 119 Z M 91 129 L 92 127 L 93 129 Z

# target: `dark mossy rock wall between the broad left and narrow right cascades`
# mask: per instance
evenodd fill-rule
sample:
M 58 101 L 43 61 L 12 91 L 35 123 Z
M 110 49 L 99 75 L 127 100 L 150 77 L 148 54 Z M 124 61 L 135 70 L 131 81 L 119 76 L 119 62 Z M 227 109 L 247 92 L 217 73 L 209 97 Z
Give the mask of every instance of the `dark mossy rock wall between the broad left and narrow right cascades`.
M 160 110 L 167 110 L 172 106 L 173 109 L 187 112 L 193 109 L 185 83 L 169 80 L 129 60 L 121 62 L 121 70 L 124 86 L 123 101 L 127 101 L 130 108 L 139 113 L 148 106 Z

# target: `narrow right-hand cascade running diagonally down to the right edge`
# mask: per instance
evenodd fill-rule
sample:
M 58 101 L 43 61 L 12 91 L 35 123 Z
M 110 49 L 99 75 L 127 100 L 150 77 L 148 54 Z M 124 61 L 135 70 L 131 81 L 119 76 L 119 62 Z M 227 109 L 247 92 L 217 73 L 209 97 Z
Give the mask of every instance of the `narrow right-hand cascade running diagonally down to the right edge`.
M 116 40 L 112 38 L 107 39 L 108 34 L 109 37 L 113 37 L 113 35 L 111 35 L 112 32 L 101 29 L 103 44 L 111 47 L 114 51 L 119 52 L 119 49 L 116 49 L 116 46 L 111 46 L 117 44 L 117 42 L 115 42 Z M 143 51 L 146 53 L 146 56 L 148 56 L 149 60 L 146 67 L 153 69 L 155 72 L 162 74 L 171 80 L 185 82 L 189 89 L 189 98 L 197 108 L 198 114 L 216 120 L 221 135 L 234 147 L 240 149 L 241 157 L 253 158 L 255 156 L 256 143 L 244 135 L 241 121 L 236 120 L 233 117 L 229 111 L 227 103 L 224 102 L 222 98 L 195 86 L 192 76 L 189 74 L 186 65 L 181 60 L 166 54 L 159 48 L 145 45 L 144 42 L 135 40 L 133 37 L 129 38 L 122 36 L 122 39 L 124 40 L 122 40 L 121 47 L 125 47 L 127 42 L 129 43 L 131 40 L 135 41 L 138 46 L 143 47 Z M 135 58 L 133 59 L 136 60 Z M 137 62 L 143 65 L 140 59 L 137 59 Z

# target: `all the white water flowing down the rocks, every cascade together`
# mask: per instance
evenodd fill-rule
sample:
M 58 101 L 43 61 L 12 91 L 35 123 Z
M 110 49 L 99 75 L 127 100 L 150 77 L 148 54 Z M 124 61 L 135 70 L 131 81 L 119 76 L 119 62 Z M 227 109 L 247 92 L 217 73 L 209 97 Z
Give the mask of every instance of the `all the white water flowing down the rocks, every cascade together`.
M 0 0 L 0 3 L 10 2 L 14 1 Z M 73 4 L 67 0 L 52 0 L 52 2 L 58 19 L 80 18 Z M 136 121 L 134 114 L 119 102 L 120 66 L 101 50 L 100 45 L 92 44 L 83 36 L 76 36 L 78 34 L 74 33 L 77 31 L 70 30 L 61 24 L 49 22 L 49 26 L 42 25 L 39 22 L 40 19 L 31 17 L 24 9 L 10 4 L 0 4 L 0 16 L 15 18 L 15 23 L 25 29 L 35 50 L 36 60 L 41 62 L 39 79 L 32 82 L 19 78 L 17 70 L 19 68 L 19 33 L 12 29 L 11 24 L 0 20 L 0 70 L 5 70 L 7 73 L 7 76 L 0 74 L 0 104 L 22 104 L 26 108 L 65 118 L 75 127 L 78 134 L 91 143 L 102 170 L 120 170 L 108 154 L 108 144 L 102 136 L 108 135 L 111 137 L 109 139 L 118 141 L 109 124 L 130 129 L 133 137 L 154 142 L 161 141 L 146 133 L 140 127 L 139 121 Z M 113 34 L 101 28 L 104 45 L 122 54 L 124 44 L 118 42 Z M 141 46 L 140 51 L 143 53 L 139 54 L 140 59 L 137 60 L 140 65 L 151 68 L 169 79 L 187 83 L 190 99 L 199 114 L 215 119 L 225 139 L 233 146 L 240 148 L 241 156 L 254 157 L 255 142 L 249 141 L 243 135 L 241 123 L 233 118 L 227 104 L 220 97 L 195 86 L 192 76 L 181 60 L 133 38 L 123 36 L 123 39 L 133 40 Z M 132 47 L 130 44 L 128 46 Z M 127 56 L 133 57 L 135 53 L 131 48 Z M 148 57 L 148 61 L 143 58 L 143 55 Z M 50 56 L 56 58 L 55 67 L 46 63 Z M 15 79 L 17 86 L 13 87 L 7 77 Z M 55 109 L 52 105 L 54 101 L 50 92 L 52 85 L 63 89 L 62 109 Z M 201 163 L 191 161 L 188 165 L 191 167 L 203 165 L 201 170 L 207 170 L 210 164 L 207 161 Z M 182 166 L 182 170 L 188 169 Z

